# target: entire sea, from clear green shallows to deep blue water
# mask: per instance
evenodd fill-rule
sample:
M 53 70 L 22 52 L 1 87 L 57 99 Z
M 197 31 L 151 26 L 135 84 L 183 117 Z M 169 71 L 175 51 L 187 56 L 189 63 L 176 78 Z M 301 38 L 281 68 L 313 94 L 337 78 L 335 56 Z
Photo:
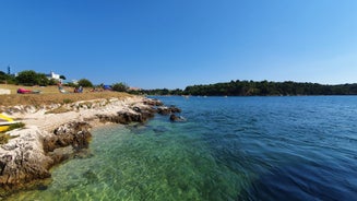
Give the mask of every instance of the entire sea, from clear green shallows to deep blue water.
M 156 98 L 186 121 L 97 128 L 8 200 L 357 200 L 357 96 Z

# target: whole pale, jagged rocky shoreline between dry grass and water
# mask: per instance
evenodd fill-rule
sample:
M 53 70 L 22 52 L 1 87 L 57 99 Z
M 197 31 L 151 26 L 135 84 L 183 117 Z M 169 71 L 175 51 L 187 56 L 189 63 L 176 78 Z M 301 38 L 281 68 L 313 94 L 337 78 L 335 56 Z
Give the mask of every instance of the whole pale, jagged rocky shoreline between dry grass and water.
M 51 111 L 64 107 L 66 113 Z M 105 123 L 145 122 L 155 114 L 180 113 L 157 99 L 133 96 L 126 99 L 95 99 L 67 105 L 16 106 L 7 108 L 26 125 L 9 131 L 15 137 L 0 146 L 0 197 L 14 191 L 44 186 L 50 168 L 86 150 L 91 128 Z

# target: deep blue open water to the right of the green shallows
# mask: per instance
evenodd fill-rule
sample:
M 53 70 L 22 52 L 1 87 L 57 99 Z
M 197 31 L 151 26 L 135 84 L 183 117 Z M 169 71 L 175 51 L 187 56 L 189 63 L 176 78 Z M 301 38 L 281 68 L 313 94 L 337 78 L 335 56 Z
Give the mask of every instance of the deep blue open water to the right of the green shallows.
M 356 96 L 160 99 L 199 125 L 216 163 L 253 175 L 238 198 L 357 199 Z

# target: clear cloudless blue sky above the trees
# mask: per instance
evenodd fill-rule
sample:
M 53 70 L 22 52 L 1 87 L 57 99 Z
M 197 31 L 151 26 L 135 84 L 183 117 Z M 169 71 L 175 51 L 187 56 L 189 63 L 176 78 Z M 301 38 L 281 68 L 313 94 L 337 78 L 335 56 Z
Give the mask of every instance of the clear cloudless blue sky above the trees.
M 185 88 L 357 83 L 356 0 L 0 0 L 0 70 Z

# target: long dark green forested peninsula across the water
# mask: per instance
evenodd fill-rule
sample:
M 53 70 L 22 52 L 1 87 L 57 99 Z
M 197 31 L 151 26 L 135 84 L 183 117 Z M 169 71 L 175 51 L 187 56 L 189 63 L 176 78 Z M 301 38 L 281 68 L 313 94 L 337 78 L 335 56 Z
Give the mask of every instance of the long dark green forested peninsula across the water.
M 147 95 L 201 96 L 297 96 L 297 95 L 357 95 L 357 84 L 318 84 L 308 82 L 230 81 L 192 85 L 185 90 L 142 90 Z

